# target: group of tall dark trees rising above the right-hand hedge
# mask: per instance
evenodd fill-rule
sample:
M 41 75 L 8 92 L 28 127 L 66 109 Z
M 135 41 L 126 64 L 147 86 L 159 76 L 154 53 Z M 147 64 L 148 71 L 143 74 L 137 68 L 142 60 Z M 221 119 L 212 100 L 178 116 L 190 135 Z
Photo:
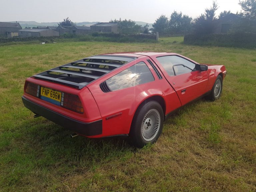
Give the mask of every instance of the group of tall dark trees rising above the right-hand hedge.
M 247 18 L 248 22 L 237 23 L 232 26 L 232 31 L 235 30 L 245 30 L 245 32 L 255 32 L 255 28 L 250 25 L 250 21 L 256 22 L 256 0 L 243 0 L 239 1 L 241 6 L 241 11 L 237 12 L 236 15 Z M 210 8 L 206 8 L 204 13 L 198 17 L 192 19 L 188 15 L 183 15 L 182 12 L 174 11 L 170 18 L 165 15 L 161 15 L 153 24 L 153 31 L 158 31 L 161 33 L 184 33 L 184 31 L 189 31 L 200 34 L 208 34 L 214 31 L 215 25 L 214 21 L 231 14 L 230 11 L 222 11 L 218 17 L 216 16 L 216 11 L 218 10 L 218 4 L 214 0 Z M 239 26 L 238 26 L 239 25 Z

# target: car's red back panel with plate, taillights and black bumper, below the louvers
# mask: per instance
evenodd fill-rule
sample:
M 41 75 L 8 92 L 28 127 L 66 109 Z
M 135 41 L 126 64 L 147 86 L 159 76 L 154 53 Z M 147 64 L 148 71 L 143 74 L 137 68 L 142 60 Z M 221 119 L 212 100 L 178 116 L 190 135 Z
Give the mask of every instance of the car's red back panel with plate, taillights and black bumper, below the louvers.
M 76 133 L 84 136 L 102 133 L 100 112 L 86 87 L 77 90 L 54 82 L 28 78 L 22 100 L 25 107 L 35 114 Z

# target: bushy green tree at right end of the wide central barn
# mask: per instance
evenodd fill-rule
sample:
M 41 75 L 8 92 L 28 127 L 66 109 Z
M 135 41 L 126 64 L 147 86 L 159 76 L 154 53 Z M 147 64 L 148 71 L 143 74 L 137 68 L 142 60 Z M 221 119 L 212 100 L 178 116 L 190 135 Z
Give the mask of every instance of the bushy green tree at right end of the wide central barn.
M 118 23 L 118 28 L 121 33 L 124 34 L 132 34 L 132 33 L 138 33 L 140 31 L 141 25 L 137 25 L 135 21 L 129 19 L 122 20 L 121 18 L 119 20 L 110 20 L 111 23 Z

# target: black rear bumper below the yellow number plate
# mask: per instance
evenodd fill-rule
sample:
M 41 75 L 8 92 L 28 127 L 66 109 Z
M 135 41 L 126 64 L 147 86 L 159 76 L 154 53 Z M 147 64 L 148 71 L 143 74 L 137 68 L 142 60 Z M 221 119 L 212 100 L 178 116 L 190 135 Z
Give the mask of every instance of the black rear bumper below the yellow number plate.
M 49 110 L 41 105 L 38 105 L 27 98 L 22 96 L 23 104 L 26 108 L 32 112 L 49 119 L 50 121 L 57 123 L 71 131 L 84 136 L 93 136 L 102 134 L 102 120 L 94 121 L 91 123 L 85 123 L 77 121 L 75 119 L 66 117 L 52 110 Z

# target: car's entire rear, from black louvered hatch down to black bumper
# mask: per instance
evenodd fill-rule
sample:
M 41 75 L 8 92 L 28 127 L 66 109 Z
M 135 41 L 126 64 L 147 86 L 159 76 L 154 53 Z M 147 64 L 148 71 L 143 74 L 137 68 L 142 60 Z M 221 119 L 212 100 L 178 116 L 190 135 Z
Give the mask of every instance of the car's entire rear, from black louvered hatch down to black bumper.
M 136 58 L 92 56 L 28 78 L 22 101 L 28 109 L 80 135 L 100 137 L 102 118 L 89 83 Z

